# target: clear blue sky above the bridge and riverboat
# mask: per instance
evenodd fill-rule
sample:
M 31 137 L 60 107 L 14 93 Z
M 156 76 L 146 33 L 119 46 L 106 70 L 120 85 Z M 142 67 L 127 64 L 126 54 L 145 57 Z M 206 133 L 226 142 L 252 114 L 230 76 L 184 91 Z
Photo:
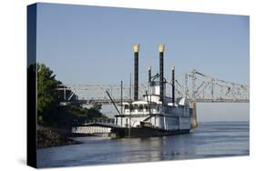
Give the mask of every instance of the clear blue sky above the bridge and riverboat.
M 64 83 L 128 84 L 138 43 L 140 83 L 149 65 L 159 72 L 158 44 L 165 44 L 166 77 L 176 65 L 177 75 L 197 69 L 249 85 L 249 16 L 54 4 L 37 10 L 38 61 Z

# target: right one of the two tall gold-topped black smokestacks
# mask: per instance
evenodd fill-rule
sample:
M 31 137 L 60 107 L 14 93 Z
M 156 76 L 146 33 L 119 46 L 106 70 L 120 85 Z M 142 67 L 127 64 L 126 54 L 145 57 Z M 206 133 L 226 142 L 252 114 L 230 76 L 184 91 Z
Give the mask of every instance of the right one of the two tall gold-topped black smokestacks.
M 159 45 L 160 101 L 164 105 L 164 45 Z

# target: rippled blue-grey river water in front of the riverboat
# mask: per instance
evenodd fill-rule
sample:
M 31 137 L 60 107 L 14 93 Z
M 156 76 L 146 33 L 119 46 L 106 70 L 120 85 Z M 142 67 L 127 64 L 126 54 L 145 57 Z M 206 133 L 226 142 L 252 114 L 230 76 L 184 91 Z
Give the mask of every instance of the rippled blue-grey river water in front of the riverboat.
M 249 155 L 249 122 L 200 123 L 186 135 L 76 138 L 83 144 L 37 150 L 37 166 L 88 166 Z

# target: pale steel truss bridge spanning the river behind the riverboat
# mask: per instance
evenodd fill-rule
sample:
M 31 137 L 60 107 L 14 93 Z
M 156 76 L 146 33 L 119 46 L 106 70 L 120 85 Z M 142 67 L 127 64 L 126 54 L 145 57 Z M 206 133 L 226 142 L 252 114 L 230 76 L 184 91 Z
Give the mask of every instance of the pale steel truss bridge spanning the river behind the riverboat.
M 169 79 L 171 80 L 171 79 Z M 167 80 L 166 96 L 171 95 L 171 81 Z M 59 91 L 63 92 L 61 105 L 78 103 L 80 105 L 108 105 L 111 103 L 106 90 L 116 103 L 129 102 L 133 97 L 132 85 L 60 85 Z M 138 96 L 145 95 L 148 83 L 139 85 Z M 240 85 L 219 78 L 201 74 L 193 70 L 190 73 L 179 75 L 175 79 L 175 96 L 187 97 L 194 102 L 225 102 L 249 103 L 250 87 Z M 74 98 L 75 97 L 75 98 Z M 74 100 L 75 99 L 75 100 Z

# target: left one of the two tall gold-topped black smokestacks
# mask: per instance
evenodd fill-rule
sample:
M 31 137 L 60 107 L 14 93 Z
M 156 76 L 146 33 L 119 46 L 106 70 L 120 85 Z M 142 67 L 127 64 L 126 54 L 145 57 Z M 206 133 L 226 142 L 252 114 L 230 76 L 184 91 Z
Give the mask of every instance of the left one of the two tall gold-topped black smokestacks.
M 133 45 L 134 52 L 134 100 L 138 100 L 138 51 L 139 45 Z

